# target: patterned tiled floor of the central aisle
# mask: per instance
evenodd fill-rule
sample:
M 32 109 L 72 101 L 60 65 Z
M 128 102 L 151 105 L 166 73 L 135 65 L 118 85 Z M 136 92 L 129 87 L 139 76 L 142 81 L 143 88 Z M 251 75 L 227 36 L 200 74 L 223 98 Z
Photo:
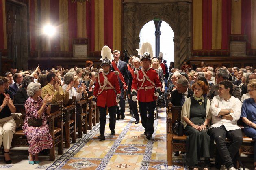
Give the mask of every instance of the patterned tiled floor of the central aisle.
M 0 155 L 0 169 L 186 170 L 185 155 L 173 157 L 173 166 L 167 166 L 165 108 L 160 111 L 152 140 L 145 139 L 141 123 L 134 124 L 135 119 L 126 112 L 124 120 L 116 121 L 114 136 L 110 135 L 109 123 L 106 122 L 104 141 L 97 139 L 97 124 L 82 138 L 77 138 L 63 155 L 57 155 L 54 162 L 48 161 L 48 155 L 40 155 L 40 164 L 30 165 L 28 147 L 18 147 L 11 149 L 13 164 L 4 164 Z M 244 158 L 248 161 L 248 157 Z M 252 167 L 252 162 L 249 159 L 247 165 Z

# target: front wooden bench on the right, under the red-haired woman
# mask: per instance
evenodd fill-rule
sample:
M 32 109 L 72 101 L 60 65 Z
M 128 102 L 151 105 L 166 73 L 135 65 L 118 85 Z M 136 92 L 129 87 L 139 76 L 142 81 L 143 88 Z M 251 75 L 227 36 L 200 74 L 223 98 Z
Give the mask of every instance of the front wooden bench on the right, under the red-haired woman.
M 167 120 L 166 120 L 166 134 L 167 134 L 167 165 L 172 165 L 172 156 L 173 151 L 186 151 L 186 135 L 177 136 L 173 134 L 172 130 L 174 129 L 175 120 L 180 120 L 182 107 L 172 106 L 171 103 L 168 104 Z M 242 128 L 243 130 L 243 128 Z M 226 138 L 228 141 L 229 139 Z M 244 154 L 254 154 L 254 145 L 251 144 L 254 142 L 252 138 L 249 138 L 243 133 L 243 144 L 239 149 L 239 153 Z

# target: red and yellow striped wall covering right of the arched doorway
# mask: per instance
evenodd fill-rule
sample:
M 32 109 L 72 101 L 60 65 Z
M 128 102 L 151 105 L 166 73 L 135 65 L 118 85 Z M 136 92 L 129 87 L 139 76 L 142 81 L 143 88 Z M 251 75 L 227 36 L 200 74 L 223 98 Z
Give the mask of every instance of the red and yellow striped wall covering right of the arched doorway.
M 247 35 L 256 49 L 256 1 L 193 0 L 193 50 L 229 50 L 230 35 Z

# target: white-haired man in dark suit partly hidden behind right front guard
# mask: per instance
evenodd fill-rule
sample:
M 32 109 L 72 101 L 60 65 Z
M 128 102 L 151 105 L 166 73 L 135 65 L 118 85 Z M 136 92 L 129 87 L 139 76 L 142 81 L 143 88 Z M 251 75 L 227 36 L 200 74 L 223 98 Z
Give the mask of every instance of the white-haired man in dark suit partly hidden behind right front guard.
M 136 75 L 136 71 L 138 72 L 139 69 L 141 69 L 142 67 L 140 66 L 141 61 L 139 58 L 134 58 L 132 60 L 133 65 L 134 65 L 134 69 L 130 70 L 129 76 L 130 76 L 130 83 L 128 86 L 128 90 L 127 90 L 127 94 L 128 94 L 128 101 L 130 100 L 130 109 L 132 110 L 132 117 L 135 118 L 135 124 L 139 123 L 139 113 L 138 113 L 138 109 L 137 109 L 137 101 L 133 101 L 131 98 L 131 88 L 132 88 L 132 80 Z M 135 74 L 134 74 L 135 72 Z

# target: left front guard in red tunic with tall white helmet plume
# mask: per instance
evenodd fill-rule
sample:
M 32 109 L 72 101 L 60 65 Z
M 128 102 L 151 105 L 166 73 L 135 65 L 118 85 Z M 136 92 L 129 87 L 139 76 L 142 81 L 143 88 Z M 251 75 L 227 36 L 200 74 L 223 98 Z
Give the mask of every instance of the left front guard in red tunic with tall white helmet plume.
M 115 71 L 109 70 L 111 68 L 111 56 L 113 57 L 111 49 L 109 49 L 108 46 L 104 46 L 102 51 L 105 51 L 102 53 L 102 57 L 106 56 L 106 58 L 102 60 L 100 65 L 103 71 L 99 72 L 96 78 L 93 92 L 93 104 L 97 102 L 100 111 L 100 135 L 98 139 L 105 140 L 106 109 L 108 108 L 111 135 L 115 135 L 115 114 L 117 102 L 120 101 L 121 91 L 118 74 Z

